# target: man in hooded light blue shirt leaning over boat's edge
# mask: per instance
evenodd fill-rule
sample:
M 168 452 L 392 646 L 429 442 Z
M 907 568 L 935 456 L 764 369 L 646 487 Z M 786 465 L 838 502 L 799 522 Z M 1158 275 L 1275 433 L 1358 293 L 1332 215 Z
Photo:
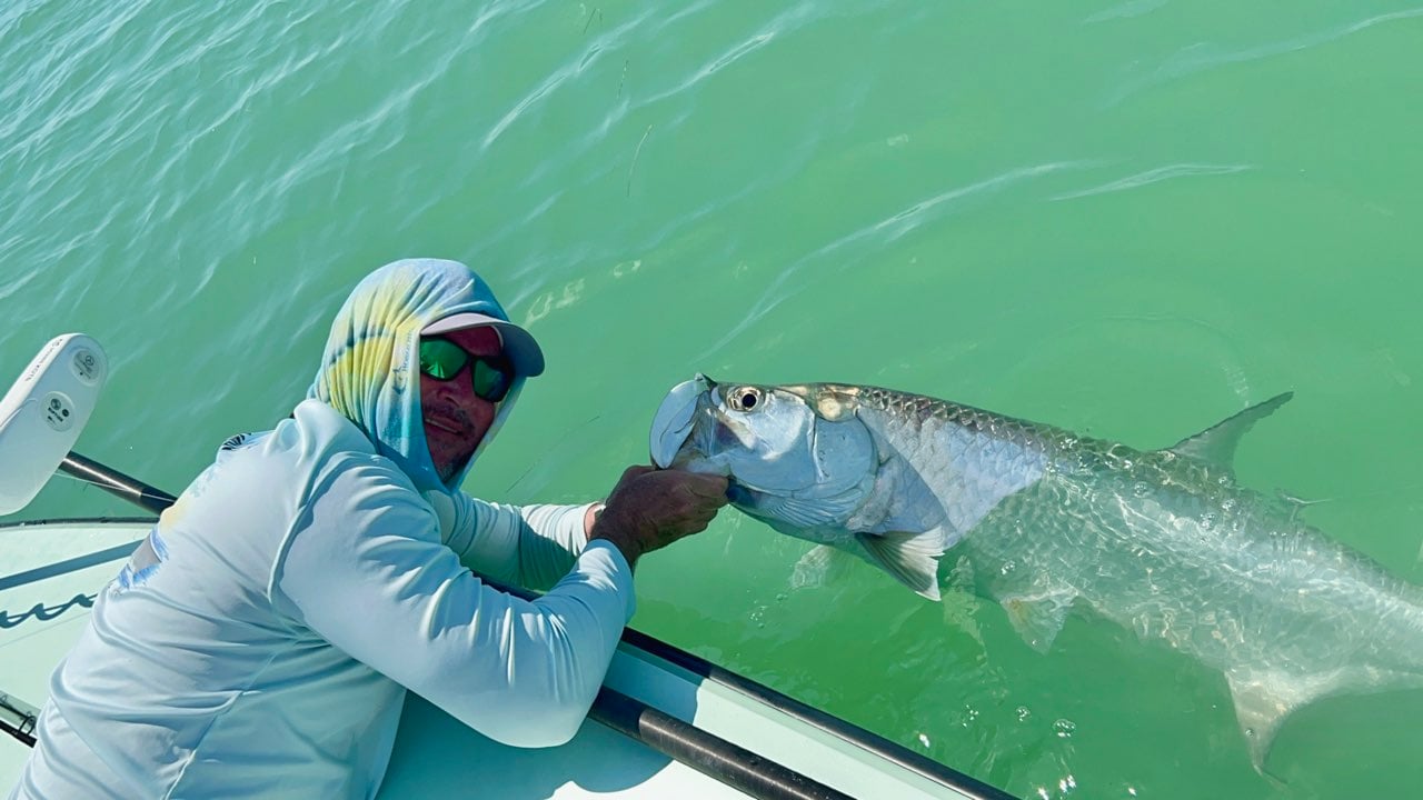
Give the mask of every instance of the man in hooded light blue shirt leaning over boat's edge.
M 726 481 L 633 467 L 601 514 L 468 497 L 542 369 L 464 265 L 363 280 L 309 399 L 223 444 L 101 592 L 11 797 L 371 797 L 407 689 L 499 742 L 572 737 L 632 565 L 704 530 Z

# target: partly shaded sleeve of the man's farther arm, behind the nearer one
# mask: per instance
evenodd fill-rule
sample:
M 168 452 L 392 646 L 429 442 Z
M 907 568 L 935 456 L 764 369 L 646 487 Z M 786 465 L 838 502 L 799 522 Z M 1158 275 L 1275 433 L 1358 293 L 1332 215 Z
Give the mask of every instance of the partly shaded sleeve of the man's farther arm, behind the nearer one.
M 444 541 L 475 572 L 529 589 L 548 589 L 588 545 L 579 505 L 505 505 L 455 491 L 427 494 Z

